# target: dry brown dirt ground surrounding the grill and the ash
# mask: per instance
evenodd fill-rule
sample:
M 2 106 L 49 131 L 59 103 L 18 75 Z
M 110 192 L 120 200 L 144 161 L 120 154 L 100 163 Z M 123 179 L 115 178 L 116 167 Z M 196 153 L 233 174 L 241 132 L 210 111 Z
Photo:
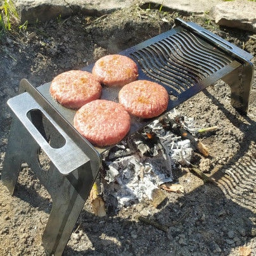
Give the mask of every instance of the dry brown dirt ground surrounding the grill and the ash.
M 109 15 L 70 16 L 29 25 L 0 39 L 0 172 L 8 144 L 11 112 L 7 99 L 16 96 L 20 79 L 37 86 L 70 69 L 82 68 L 108 53 L 134 46 L 172 28 L 174 18 L 191 20 L 254 55 L 255 35 L 218 27 L 202 16 L 132 6 Z M 255 75 L 248 115 L 230 105 L 230 89 L 221 80 L 177 108 L 194 117 L 198 127 L 217 125 L 198 138 L 210 156 L 196 153 L 193 164 L 213 177 L 203 183 L 190 167 L 173 170 L 174 182 L 185 193 L 167 193 L 155 208 L 144 202 L 93 215 L 86 203 L 63 255 L 256 255 L 255 202 Z M 15 193 L 0 182 L 0 255 L 47 255 L 41 236 L 51 210 L 47 191 L 26 164 Z M 167 227 L 167 231 L 138 221 L 138 214 Z

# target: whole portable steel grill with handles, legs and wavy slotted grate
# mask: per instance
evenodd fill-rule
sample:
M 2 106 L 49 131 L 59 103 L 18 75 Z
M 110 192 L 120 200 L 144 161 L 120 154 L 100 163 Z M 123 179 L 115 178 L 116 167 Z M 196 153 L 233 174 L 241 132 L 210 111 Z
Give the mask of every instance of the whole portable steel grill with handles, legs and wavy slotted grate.
M 120 54 L 136 61 L 139 79 L 167 89 L 167 112 L 219 79 L 231 87 L 231 104 L 241 113 L 248 110 L 252 55 L 195 23 L 176 19 L 173 29 Z M 20 94 L 8 101 L 15 115 L 1 179 L 13 194 L 21 164 L 30 165 L 53 200 L 43 245 L 49 253 L 61 255 L 98 175 L 101 154 L 110 147 L 96 148 L 84 139 L 72 125 L 75 111 L 56 103 L 49 86 L 35 88 L 23 79 Z M 101 98 L 118 101 L 118 88 L 103 87 Z M 151 121 L 132 117 L 127 136 Z M 50 160 L 48 170 L 39 161 L 41 150 Z

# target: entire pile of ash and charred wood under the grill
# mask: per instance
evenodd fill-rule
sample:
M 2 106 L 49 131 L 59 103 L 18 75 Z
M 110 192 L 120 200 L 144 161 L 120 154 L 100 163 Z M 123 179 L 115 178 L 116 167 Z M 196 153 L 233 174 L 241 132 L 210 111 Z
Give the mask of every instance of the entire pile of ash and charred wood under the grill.
M 174 168 L 191 162 L 195 146 L 175 132 L 180 127 L 196 130 L 193 118 L 173 110 L 103 156 L 99 181 L 106 208 L 118 211 L 151 200 L 155 189 L 173 181 Z

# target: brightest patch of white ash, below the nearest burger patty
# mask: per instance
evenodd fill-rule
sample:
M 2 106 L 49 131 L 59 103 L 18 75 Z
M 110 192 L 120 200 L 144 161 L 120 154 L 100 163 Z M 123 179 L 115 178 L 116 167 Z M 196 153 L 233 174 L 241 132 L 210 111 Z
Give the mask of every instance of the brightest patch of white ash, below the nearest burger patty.
M 141 162 L 138 154 L 108 163 L 110 170 L 107 170 L 105 177 L 108 183 L 105 193 L 117 198 L 117 208 L 141 202 L 144 198 L 151 199 L 153 189 L 172 181 L 171 171 L 167 171 L 160 163 L 154 158 Z

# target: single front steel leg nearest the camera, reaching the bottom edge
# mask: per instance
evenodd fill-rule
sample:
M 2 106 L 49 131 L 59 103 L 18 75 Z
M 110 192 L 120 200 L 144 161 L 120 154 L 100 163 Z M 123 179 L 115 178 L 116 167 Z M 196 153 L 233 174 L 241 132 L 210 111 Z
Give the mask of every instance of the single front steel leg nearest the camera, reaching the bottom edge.
M 68 176 L 61 176 L 60 172 L 54 169 L 52 178 L 54 184 L 51 184 L 49 193 L 52 194 L 53 207 L 42 243 L 49 253 L 61 255 L 84 207 L 94 178 L 89 164 Z

